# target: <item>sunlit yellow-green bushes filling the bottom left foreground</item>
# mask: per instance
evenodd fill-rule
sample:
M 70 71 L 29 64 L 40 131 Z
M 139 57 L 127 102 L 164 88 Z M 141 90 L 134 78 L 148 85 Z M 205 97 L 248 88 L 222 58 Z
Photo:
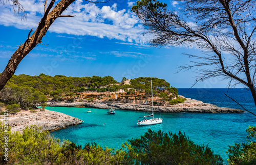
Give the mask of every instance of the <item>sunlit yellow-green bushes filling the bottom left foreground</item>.
M 8 134 L 8 161 L 4 160 L 4 136 Z M 37 126 L 25 128 L 23 134 L 5 132 L 0 123 L 0 164 L 121 164 L 125 152 L 86 145 L 83 149 L 75 143 L 54 139 L 48 131 Z

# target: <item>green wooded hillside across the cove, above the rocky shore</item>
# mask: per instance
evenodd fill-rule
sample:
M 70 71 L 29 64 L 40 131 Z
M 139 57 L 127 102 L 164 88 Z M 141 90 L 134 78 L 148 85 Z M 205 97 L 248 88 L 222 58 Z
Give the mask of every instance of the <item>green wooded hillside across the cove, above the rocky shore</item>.
M 123 80 L 126 78 L 123 77 Z M 36 107 L 36 105 L 45 105 L 48 100 L 112 101 L 115 93 L 118 94 L 119 99 L 147 100 L 151 96 L 151 80 L 155 97 L 170 104 L 184 101 L 178 97 L 177 88 L 170 87 L 169 82 L 155 77 L 138 77 L 131 79 L 129 84 L 121 85 L 111 76 L 67 77 L 42 73 L 38 76 L 13 75 L 5 88 L 0 91 L 0 101 L 13 105 L 10 111 L 14 109 L 17 111 L 17 106 Z

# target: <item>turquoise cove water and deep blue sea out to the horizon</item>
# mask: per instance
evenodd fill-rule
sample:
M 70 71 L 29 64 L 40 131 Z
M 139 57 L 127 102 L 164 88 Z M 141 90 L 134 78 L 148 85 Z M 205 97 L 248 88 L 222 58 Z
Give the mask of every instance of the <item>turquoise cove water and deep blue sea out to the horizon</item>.
M 227 93 L 228 91 L 228 93 Z M 227 93 L 244 108 L 256 114 L 250 91 L 246 89 L 178 89 L 179 95 L 223 107 L 239 108 L 240 105 L 224 95 Z M 116 110 L 109 115 L 107 109 L 78 107 L 46 107 L 51 111 L 77 117 L 84 123 L 51 132 L 60 140 L 69 140 L 82 145 L 95 142 L 109 148 L 121 148 L 125 141 L 138 138 L 148 128 L 165 132 L 185 132 L 189 139 L 199 145 L 208 145 L 215 154 L 226 161 L 229 145 L 246 142 L 246 128 L 256 125 L 256 116 L 249 113 L 162 113 L 163 123 L 152 126 L 137 126 L 144 112 Z M 91 113 L 87 113 L 91 109 Z M 159 113 L 155 113 L 159 117 Z

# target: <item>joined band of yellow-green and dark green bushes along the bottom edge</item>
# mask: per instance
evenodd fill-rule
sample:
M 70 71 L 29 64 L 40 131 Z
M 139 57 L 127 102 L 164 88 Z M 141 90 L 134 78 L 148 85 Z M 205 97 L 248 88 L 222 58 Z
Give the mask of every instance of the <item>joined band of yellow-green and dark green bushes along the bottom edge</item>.
M 87 144 L 83 148 L 60 142 L 37 126 L 23 134 L 8 127 L 8 161 L 4 157 L 4 125 L 0 123 L 0 164 L 222 164 L 207 146 L 199 146 L 184 134 L 148 131 L 140 139 L 125 142 L 115 150 Z

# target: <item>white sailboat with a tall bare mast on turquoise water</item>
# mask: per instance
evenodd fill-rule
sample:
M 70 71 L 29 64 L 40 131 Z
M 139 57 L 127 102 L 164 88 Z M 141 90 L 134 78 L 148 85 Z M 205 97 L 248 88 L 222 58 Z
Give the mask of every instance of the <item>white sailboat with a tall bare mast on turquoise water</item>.
M 159 118 L 154 118 L 154 106 L 153 106 L 153 89 L 152 89 L 152 80 L 151 80 L 151 94 L 152 94 L 152 114 L 151 115 L 147 115 L 144 116 L 143 119 L 139 121 L 138 120 L 138 125 L 155 125 L 155 124 L 161 124 L 163 119 L 161 117 Z M 146 119 L 146 118 L 150 118 L 150 119 Z

